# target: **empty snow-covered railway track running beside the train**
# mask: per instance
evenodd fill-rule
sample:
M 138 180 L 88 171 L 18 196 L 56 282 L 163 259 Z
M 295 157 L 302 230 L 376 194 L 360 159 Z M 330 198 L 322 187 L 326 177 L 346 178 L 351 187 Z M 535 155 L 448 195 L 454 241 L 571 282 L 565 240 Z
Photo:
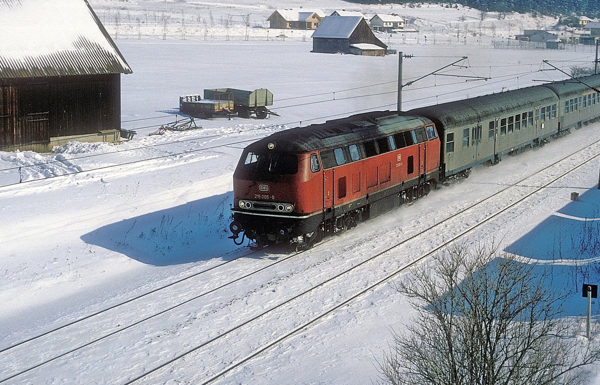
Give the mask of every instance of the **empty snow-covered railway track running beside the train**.
M 413 264 L 430 257 L 450 243 L 518 207 L 524 200 L 544 191 L 568 173 L 600 157 L 599 143 L 600 141 L 595 142 L 589 148 L 563 158 L 541 172 L 524 178 L 517 184 L 506 187 L 419 233 L 419 237 L 431 237 L 433 244 L 437 246 L 428 248 L 422 242 L 416 242 L 416 236 L 401 240 L 368 256 L 349 269 L 344 269 L 319 284 L 312 285 L 307 290 L 265 309 L 254 317 L 239 322 L 224 332 L 209 336 L 200 344 L 128 380 L 126 384 L 142 380 L 149 380 L 152 383 L 162 382 L 169 378 L 186 377 L 186 374 L 189 376 L 190 370 L 185 368 L 185 359 L 192 362 L 191 365 L 196 368 L 197 373 L 193 378 L 186 378 L 186 380 L 197 384 L 208 384 L 218 380 L 244 366 L 266 350 L 298 335 L 302 330 L 319 323 L 338 309 L 348 306 L 368 292 L 390 282 Z M 398 254 L 404 253 L 418 256 L 405 262 L 395 258 Z M 376 265 L 379 269 L 361 268 L 370 264 Z M 318 306 L 318 311 L 311 310 L 317 307 L 314 306 L 315 302 L 322 304 Z M 173 366 L 172 364 L 176 362 L 181 365 Z

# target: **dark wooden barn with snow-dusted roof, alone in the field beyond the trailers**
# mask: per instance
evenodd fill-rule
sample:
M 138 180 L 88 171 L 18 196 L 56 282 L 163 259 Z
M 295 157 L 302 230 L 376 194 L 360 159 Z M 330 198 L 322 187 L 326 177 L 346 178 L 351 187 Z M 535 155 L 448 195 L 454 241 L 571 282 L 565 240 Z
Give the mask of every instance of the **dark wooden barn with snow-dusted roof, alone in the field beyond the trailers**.
M 327 16 L 313 33 L 312 52 L 357 53 L 356 49 L 361 50 L 361 48 L 356 44 L 361 43 L 370 44 L 370 49 L 373 49 L 372 46 L 378 46 L 384 50 L 384 53 L 388 47 L 373 34 L 362 17 Z M 352 45 L 356 46 L 354 50 L 350 50 Z

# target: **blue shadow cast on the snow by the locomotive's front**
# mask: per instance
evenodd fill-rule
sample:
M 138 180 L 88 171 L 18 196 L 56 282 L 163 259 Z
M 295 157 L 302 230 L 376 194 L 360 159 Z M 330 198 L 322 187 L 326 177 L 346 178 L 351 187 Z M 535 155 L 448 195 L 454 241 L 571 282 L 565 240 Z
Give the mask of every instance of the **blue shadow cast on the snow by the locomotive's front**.
M 231 260 L 239 256 L 232 251 L 240 248 L 227 238 L 232 195 L 229 191 L 134 216 L 83 234 L 81 239 L 152 266 Z M 264 255 L 259 252 L 252 257 Z

